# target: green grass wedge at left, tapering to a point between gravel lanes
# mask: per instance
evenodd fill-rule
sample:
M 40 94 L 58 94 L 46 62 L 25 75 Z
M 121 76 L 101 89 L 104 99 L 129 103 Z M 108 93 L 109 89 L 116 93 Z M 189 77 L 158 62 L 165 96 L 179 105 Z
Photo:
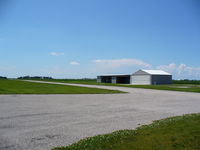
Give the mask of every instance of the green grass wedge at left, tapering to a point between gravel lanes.
M 0 80 L 0 94 L 110 94 L 124 93 L 117 90 L 87 88 L 47 83 L 32 83 L 21 80 Z

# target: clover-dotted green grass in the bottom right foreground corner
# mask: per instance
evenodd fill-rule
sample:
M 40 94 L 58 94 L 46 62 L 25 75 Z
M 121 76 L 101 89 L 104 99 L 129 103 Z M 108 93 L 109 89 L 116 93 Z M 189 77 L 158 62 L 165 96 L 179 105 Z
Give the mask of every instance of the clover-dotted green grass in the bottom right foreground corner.
M 120 130 L 52 150 L 199 150 L 200 114 L 154 121 L 136 130 Z

